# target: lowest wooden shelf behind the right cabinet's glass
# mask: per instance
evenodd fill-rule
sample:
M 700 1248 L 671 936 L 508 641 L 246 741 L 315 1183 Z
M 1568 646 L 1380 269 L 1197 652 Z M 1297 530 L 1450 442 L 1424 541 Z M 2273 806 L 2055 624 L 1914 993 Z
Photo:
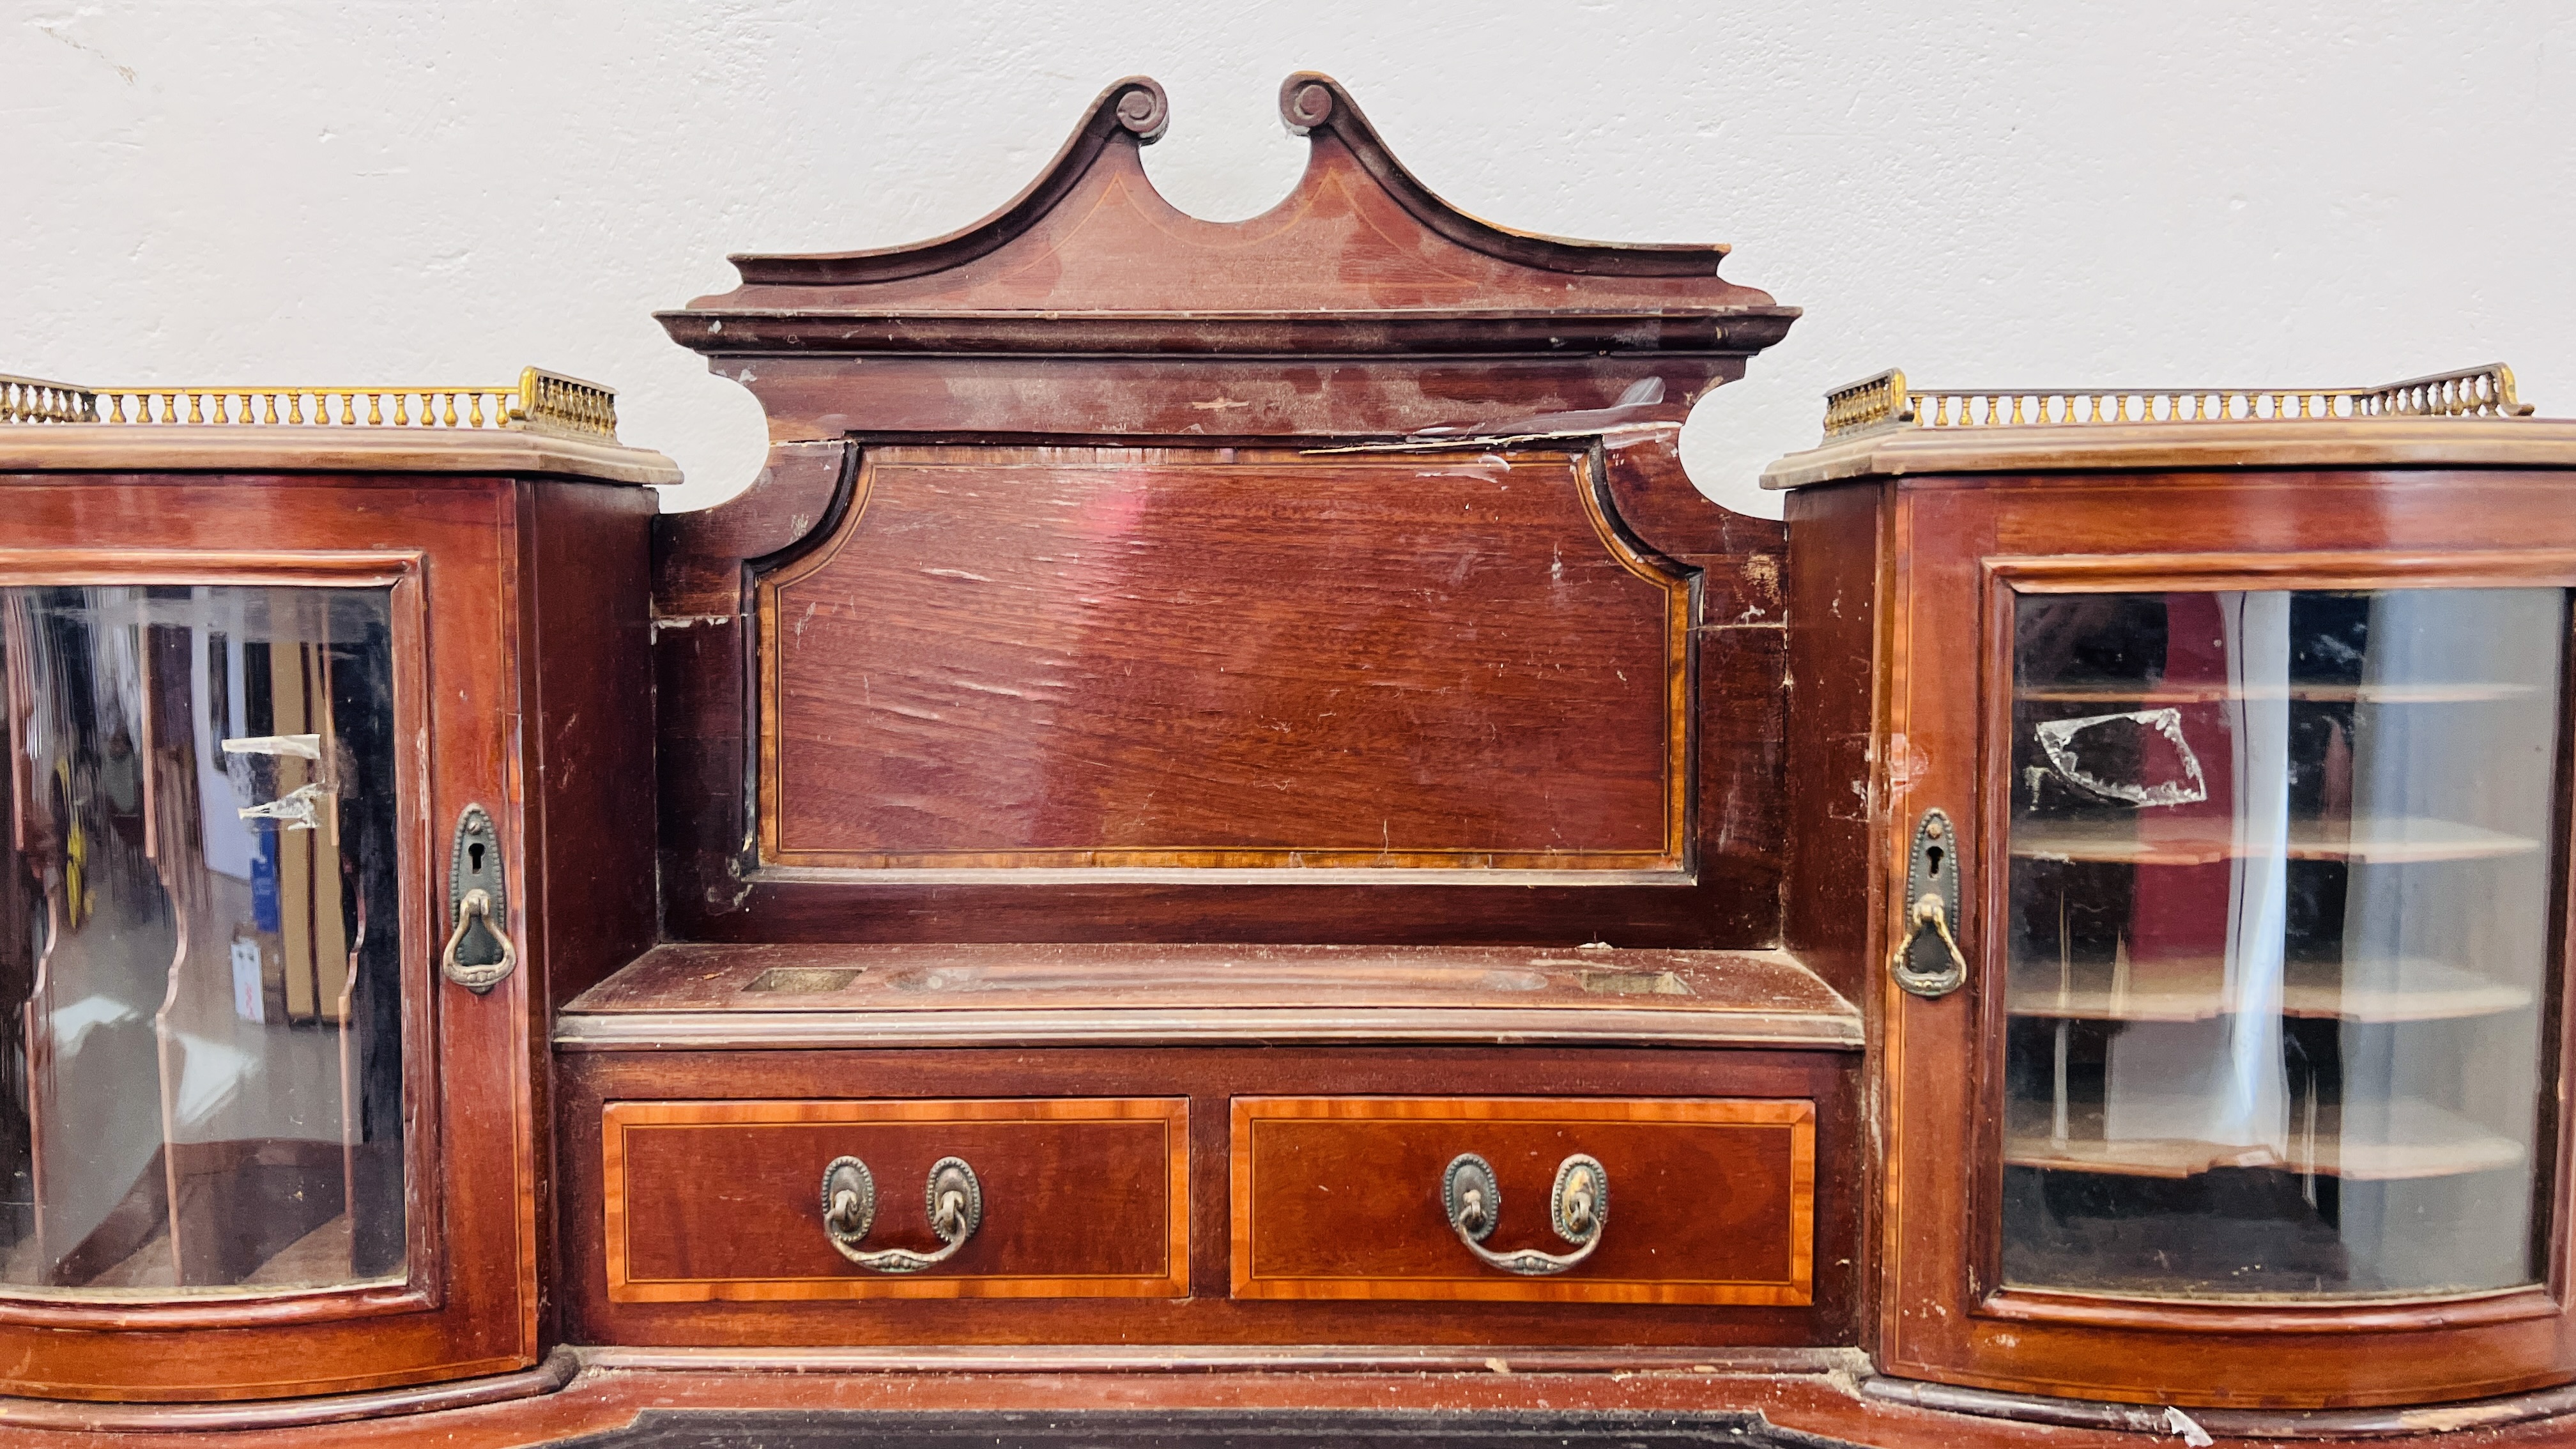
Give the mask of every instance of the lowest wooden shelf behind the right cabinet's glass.
M 2200 1106 L 2156 1098 L 2130 1101 L 2141 1119 L 2161 1116 L 2159 1109 L 2174 1109 L 2179 1116 Z M 2190 1178 L 2213 1168 L 2280 1168 L 2347 1181 L 2393 1181 L 2486 1173 L 2524 1160 L 2519 1142 L 2416 1098 L 2370 1104 L 2367 1111 L 2362 1106 L 2318 1106 L 2313 1132 L 2303 1116 L 2295 1114 L 2295 1129 L 2282 1147 L 2246 1147 L 2187 1137 L 2105 1140 L 2099 1137 L 2102 1109 L 2097 1104 L 2079 1106 L 2069 1137 L 2056 1137 L 2045 1101 L 2017 1101 L 2004 1137 L 2004 1163 L 2136 1178 Z

